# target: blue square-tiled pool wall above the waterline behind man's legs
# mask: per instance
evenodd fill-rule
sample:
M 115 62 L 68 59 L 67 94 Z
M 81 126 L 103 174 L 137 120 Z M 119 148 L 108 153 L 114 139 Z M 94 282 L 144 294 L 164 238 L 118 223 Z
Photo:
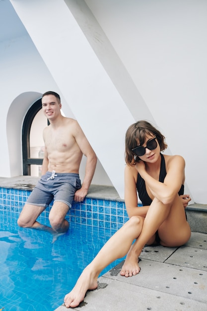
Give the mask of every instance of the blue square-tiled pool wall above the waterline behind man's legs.
M 0 188 L 0 210 L 14 213 L 18 219 L 30 190 L 12 188 Z M 48 218 L 50 206 L 41 214 L 41 217 Z M 69 222 L 84 224 L 87 226 L 120 229 L 129 219 L 124 201 L 113 201 L 96 198 L 85 198 L 81 203 L 73 202 L 66 217 Z

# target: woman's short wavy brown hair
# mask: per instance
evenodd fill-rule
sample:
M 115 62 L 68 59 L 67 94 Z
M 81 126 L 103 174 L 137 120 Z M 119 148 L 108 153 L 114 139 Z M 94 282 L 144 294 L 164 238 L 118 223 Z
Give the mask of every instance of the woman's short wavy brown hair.
M 156 136 L 156 139 L 160 146 L 160 151 L 164 151 L 167 148 L 165 143 L 165 137 L 149 122 L 141 120 L 132 124 L 126 133 L 125 138 L 125 161 L 128 165 L 134 166 L 139 160 L 132 149 L 136 148 L 138 144 L 142 146 L 144 144 L 146 135 Z

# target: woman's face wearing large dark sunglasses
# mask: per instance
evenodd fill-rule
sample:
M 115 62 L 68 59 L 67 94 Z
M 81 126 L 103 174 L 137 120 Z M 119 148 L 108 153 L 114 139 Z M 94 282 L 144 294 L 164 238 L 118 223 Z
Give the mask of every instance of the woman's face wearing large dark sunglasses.
M 159 155 L 160 155 L 160 146 L 159 143 L 156 139 L 156 136 L 153 134 L 146 134 L 144 144 L 139 145 L 137 148 L 137 153 L 138 157 L 140 160 L 145 161 L 145 162 L 156 162 Z

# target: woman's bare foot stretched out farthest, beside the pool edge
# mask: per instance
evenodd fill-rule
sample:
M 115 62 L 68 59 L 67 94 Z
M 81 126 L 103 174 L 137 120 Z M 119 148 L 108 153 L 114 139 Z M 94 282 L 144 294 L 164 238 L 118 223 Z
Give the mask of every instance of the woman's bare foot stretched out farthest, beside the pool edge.
M 77 307 L 83 301 L 87 290 L 94 290 L 97 288 L 97 286 L 97 277 L 94 278 L 92 273 L 86 267 L 81 273 L 71 292 L 65 296 L 65 307 Z

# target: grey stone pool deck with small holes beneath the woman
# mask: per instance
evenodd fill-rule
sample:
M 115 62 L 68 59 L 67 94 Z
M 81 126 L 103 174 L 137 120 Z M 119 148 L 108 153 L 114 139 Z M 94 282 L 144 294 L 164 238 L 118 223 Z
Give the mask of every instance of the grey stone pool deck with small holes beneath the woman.
M 146 246 L 139 258 L 138 275 L 120 276 L 120 263 L 78 307 L 56 311 L 207 311 L 207 234 L 192 233 L 178 248 Z

